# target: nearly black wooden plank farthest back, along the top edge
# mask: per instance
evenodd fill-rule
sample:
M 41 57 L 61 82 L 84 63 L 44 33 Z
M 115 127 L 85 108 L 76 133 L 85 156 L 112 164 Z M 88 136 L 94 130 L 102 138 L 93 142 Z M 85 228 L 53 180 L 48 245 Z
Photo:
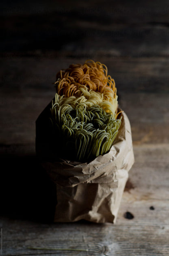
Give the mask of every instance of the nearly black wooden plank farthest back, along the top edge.
M 1 52 L 86 58 L 168 56 L 169 3 L 124 1 L 23 4 L 1 11 Z M 52 53 L 51 53 L 52 54 Z

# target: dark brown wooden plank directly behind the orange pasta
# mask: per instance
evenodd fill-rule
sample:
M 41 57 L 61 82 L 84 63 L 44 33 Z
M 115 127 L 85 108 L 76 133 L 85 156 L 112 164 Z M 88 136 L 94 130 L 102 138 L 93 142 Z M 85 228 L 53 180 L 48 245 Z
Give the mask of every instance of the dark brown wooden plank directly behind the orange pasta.
M 72 63 L 84 63 L 86 58 L 36 58 L 36 57 L 6 57 L 1 58 L 1 90 L 6 93 L 22 93 L 25 89 L 34 88 L 37 92 L 46 94 L 52 91 L 55 76 L 61 68 L 67 68 Z M 169 92 L 169 60 L 165 57 L 132 58 L 96 56 L 108 67 L 108 73 L 115 79 L 118 93 L 128 92 Z M 9 90 L 10 87 L 10 90 Z M 38 89 L 41 89 L 38 91 Z M 54 91 L 54 90 L 53 90 Z M 30 95 L 31 91 L 29 91 Z M 36 94 L 37 95 L 37 94 Z

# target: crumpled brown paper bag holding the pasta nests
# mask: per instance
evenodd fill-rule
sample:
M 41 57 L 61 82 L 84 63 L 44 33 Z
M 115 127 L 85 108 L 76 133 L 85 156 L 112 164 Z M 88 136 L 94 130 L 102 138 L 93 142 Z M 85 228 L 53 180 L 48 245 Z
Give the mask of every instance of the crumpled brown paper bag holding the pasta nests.
M 85 219 L 96 223 L 115 223 L 128 171 L 134 163 L 127 115 L 121 113 L 119 132 L 107 154 L 89 163 L 63 159 L 53 161 L 49 145 L 52 139 L 48 126 L 50 106 L 43 110 L 36 121 L 36 151 L 42 166 L 56 184 L 54 222 Z

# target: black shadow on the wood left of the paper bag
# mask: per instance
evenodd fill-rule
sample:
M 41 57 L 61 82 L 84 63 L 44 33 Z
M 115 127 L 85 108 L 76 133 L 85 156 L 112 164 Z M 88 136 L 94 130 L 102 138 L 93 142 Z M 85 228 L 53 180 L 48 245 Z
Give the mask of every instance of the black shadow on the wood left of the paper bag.
M 0 215 L 50 223 L 56 205 L 55 186 L 35 156 L 1 156 Z

